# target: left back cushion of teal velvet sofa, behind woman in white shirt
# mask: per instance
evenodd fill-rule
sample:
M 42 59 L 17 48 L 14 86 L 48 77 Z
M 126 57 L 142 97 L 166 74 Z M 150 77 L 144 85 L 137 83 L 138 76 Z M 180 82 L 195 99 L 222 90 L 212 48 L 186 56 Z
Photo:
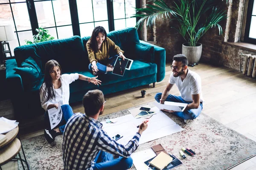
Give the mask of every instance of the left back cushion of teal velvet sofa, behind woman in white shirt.
M 44 74 L 44 65 L 50 59 L 55 59 L 61 65 L 63 73 L 74 70 L 88 69 L 87 52 L 79 36 L 66 39 L 50 40 L 31 45 L 23 45 L 14 49 L 17 65 L 31 56 Z

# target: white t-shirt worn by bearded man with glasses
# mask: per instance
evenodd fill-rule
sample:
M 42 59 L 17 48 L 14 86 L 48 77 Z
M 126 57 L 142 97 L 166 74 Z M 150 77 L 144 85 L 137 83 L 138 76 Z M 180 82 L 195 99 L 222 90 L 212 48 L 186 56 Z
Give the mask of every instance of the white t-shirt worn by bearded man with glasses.
M 171 74 L 169 83 L 177 85 L 180 91 L 180 96 L 183 100 L 193 102 L 192 94 L 200 94 L 200 102 L 204 102 L 201 78 L 194 71 L 190 71 L 188 69 L 188 73 L 183 81 L 181 80 L 180 76 L 174 77 L 173 74 Z

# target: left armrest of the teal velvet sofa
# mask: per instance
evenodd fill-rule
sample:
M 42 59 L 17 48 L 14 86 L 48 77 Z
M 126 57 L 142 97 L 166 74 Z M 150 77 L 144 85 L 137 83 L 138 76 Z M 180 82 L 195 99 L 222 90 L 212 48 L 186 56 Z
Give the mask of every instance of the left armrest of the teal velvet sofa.
M 6 60 L 6 83 L 11 98 L 14 97 L 13 95 L 15 94 L 24 92 L 20 74 L 15 73 L 15 70 L 13 70 L 13 68 L 16 67 L 18 66 L 15 59 Z

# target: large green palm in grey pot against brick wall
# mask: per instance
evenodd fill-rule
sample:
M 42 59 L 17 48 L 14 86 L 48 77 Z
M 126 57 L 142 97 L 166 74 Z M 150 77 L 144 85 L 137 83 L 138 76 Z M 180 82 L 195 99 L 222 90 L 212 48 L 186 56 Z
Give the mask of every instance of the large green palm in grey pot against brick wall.
M 186 41 L 182 45 L 182 54 L 188 58 L 192 66 L 201 58 L 202 44 L 198 40 L 212 27 L 218 27 L 219 34 L 222 28 L 218 24 L 226 19 L 226 11 L 216 5 L 216 0 L 174 0 L 173 6 L 168 6 L 163 0 L 148 0 L 145 8 L 135 8 L 133 17 L 140 17 L 136 27 L 139 28 L 146 21 L 151 27 L 157 18 L 177 20 L 175 28 Z

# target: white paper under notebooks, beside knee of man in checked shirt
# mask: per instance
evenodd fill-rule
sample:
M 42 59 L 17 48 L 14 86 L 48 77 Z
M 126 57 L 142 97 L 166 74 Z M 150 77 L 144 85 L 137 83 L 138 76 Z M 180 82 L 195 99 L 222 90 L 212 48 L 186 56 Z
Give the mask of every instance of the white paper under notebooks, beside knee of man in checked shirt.
M 153 158 L 154 156 L 156 156 L 156 154 L 152 149 L 147 149 L 131 154 L 133 164 L 137 170 L 151 170 L 151 168 L 148 167 L 144 162 Z

